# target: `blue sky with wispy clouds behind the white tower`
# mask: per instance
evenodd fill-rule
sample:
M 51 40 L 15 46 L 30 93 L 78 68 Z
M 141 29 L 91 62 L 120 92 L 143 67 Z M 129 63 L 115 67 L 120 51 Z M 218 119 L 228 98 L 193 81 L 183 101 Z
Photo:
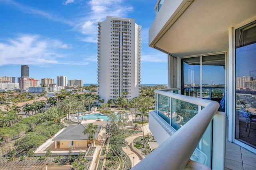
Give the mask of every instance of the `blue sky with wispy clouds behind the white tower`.
M 157 0 L 0 0 L 0 76 L 67 76 L 97 83 L 97 23 L 106 16 L 142 25 L 142 84 L 167 83 L 167 55 L 148 47 Z M 17 79 L 16 79 L 17 81 Z

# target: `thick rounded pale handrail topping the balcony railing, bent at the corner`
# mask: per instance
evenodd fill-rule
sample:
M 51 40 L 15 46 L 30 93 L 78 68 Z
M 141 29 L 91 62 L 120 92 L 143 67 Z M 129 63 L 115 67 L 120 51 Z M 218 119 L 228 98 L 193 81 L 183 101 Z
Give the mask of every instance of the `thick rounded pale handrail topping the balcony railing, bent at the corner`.
M 183 170 L 220 105 L 215 101 L 161 90 L 155 90 L 155 93 L 203 106 L 204 109 L 134 166 L 132 170 Z

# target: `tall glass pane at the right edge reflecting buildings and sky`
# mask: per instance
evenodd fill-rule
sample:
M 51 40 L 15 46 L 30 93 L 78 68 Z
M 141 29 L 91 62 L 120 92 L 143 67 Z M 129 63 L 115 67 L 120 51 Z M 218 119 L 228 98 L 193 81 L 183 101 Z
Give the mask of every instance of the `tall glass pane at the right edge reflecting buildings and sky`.
M 235 138 L 256 148 L 256 21 L 236 29 Z M 249 134 L 250 131 L 250 134 Z

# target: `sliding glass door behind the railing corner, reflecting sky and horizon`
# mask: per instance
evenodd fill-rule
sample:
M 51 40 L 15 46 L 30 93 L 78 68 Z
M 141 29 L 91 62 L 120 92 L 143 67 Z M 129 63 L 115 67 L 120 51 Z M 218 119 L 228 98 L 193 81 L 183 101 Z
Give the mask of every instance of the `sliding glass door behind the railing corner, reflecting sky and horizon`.
M 225 111 L 226 53 L 181 59 L 182 94 L 214 100 Z

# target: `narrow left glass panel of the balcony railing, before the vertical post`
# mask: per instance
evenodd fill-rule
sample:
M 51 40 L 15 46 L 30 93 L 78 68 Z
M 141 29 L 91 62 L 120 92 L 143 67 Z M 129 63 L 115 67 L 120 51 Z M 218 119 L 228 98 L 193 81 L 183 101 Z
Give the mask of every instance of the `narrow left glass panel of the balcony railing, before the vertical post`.
M 170 97 L 158 94 L 158 115 L 170 124 Z

